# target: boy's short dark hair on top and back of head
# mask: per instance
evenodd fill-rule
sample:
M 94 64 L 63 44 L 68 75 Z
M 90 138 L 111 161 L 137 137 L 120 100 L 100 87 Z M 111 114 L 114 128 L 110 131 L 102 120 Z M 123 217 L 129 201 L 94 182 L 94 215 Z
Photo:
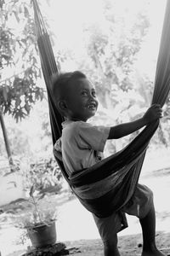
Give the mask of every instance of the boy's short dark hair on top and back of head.
M 86 79 L 86 75 L 80 71 L 59 73 L 52 78 L 52 93 L 54 102 L 65 98 L 65 87 L 69 86 L 72 81 L 77 79 Z

